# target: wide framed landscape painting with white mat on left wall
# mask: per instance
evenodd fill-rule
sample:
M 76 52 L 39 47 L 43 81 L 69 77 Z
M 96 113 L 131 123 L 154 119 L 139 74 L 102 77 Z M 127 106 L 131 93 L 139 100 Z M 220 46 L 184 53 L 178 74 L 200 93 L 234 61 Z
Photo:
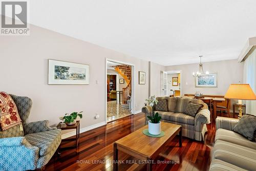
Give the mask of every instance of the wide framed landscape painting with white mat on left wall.
M 89 65 L 48 59 L 48 84 L 89 84 Z

